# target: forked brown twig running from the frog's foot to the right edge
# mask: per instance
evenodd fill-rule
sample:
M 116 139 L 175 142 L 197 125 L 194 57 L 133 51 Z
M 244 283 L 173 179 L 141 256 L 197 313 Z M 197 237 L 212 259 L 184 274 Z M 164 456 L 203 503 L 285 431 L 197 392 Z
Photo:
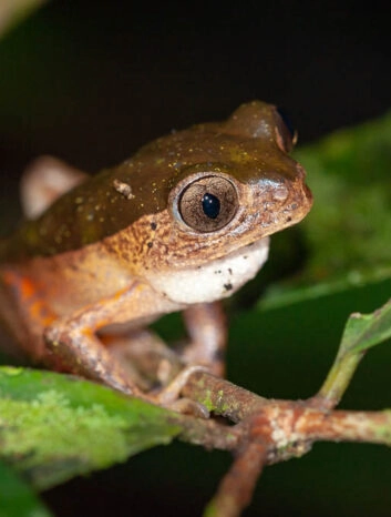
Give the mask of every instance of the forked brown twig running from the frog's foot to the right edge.
M 344 383 L 342 383 L 344 384 Z M 249 504 L 265 465 L 299 457 L 315 442 L 366 442 L 391 445 L 391 410 L 330 410 L 321 397 L 268 401 L 205 372 L 194 373 L 184 395 L 206 404 L 217 415 L 237 423 L 205 422 L 197 443 L 230 449 L 236 459 L 206 508 L 206 517 L 238 517 Z M 204 427 L 203 427 L 204 426 Z M 192 425 L 182 439 L 194 442 Z M 199 439 L 199 437 L 202 439 Z

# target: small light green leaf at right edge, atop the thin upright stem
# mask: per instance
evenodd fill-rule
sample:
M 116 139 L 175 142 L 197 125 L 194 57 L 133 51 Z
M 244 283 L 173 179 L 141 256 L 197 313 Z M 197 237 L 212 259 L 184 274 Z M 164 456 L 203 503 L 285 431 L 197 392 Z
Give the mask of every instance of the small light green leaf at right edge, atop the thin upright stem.
M 391 301 L 372 314 L 352 314 L 344 327 L 339 355 L 358 353 L 391 337 Z

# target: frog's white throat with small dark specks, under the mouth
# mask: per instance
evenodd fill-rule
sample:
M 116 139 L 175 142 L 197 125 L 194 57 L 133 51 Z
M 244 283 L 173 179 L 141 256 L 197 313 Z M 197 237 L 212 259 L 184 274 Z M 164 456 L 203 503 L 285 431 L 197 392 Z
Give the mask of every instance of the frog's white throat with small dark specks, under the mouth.
M 210 303 L 230 296 L 265 264 L 269 237 L 240 247 L 199 266 L 178 268 L 148 277 L 151 286 L 181 304 Z

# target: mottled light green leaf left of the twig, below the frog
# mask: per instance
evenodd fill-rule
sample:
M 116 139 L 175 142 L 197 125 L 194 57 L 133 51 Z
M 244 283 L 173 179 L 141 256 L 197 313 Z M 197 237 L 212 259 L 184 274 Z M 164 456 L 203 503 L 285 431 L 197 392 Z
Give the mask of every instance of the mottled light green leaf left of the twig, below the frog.
M 0 368 L 0 457 L 38 488 L 124 462 L 182 427 L 175 414 L 69 376 Z

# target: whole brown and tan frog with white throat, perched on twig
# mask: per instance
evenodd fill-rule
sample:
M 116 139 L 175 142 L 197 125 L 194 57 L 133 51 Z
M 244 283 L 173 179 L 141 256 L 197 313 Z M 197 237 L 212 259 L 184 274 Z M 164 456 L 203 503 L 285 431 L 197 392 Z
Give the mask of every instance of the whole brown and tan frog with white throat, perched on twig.
M 21 182 L 24 221 L 0 242 L 1 321 L 16 349 L 130 396 L 156 396 L 194 367 L 224 375 L 224 298 L 312 205 L 296 139 L 276 105 L 251 101 L 92 176 L 39 159 Z M 126 353 L 162 343 L 148 327 L 174 312 L 186 346 L 162 354 L 158 387 L 143 388 Z

